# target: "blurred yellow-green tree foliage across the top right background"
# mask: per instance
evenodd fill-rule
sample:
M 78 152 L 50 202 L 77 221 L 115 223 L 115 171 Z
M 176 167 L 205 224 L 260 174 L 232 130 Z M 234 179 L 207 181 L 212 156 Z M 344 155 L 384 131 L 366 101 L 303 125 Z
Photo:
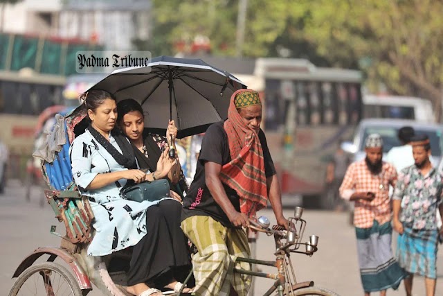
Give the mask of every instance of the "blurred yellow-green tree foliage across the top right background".
M 216 55 L 235 54 L 239 0 L 153 0 L 154 55 L 179 40 L 210 38 Z M 430 98 L 440 116 L 443 1 L 249 0 L 242 52 L 307 58 L 362 69 L 368 87 Z M 439 117 L 440 118 L 440 117 Z

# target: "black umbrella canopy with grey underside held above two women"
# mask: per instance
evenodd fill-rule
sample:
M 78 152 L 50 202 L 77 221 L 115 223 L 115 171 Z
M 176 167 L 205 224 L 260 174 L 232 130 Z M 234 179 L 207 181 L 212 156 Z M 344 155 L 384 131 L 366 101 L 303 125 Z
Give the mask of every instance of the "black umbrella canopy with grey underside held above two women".
M 173 119 L 180 139 L 226 119 L 230 96 L 242 88 L 233 75 L 202 60 L 161 56 L 147 67 L 116 70 L 89 90 L 103 89 L 117 101 L 134 98 L 145 112 L 145 128 L 165 132 Z

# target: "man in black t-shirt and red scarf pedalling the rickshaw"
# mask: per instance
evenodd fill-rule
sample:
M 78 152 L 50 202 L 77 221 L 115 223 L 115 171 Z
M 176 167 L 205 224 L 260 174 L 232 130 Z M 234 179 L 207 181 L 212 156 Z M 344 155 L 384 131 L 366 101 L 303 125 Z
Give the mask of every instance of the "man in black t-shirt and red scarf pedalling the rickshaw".
M 201 143 L 181 223 L 199 251 L 192 257 L 195 295 L 248 293 L 251 277 L 233 274 L 230 256 L 250 256 L 242 227 L 249 225 L 248 215 L 266 206 L 268 198 L 278 225 L 288 228 L 261 120 L 257 92 L 239 90 L 231 97 L 228 120 L 210 125 Z M 251 266 L 235 263 L 235 268 L 250 270 Z

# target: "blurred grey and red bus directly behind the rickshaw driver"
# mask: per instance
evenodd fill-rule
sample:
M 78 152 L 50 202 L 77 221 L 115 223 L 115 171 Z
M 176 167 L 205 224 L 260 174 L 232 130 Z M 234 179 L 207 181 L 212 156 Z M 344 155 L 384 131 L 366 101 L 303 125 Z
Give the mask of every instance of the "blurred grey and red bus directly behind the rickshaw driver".
M 360 71 L 308 60 L 259 58 L 252 75 L 233 73 L 264 102 L 263 129 L 282 193 L 318 205 L 327 163 L 362 118 Z

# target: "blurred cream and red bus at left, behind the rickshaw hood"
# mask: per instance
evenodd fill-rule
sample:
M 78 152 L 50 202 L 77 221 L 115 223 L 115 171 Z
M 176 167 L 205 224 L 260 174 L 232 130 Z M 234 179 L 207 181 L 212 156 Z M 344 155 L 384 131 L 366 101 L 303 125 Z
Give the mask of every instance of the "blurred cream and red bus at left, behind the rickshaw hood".
M 104 77 L 97 74 L 66 77 L 35 73 L 31 69 L 0 71 L 0 140 L 10 151 L 10 177 L 25 177 L 24 168 L 29 166 L 34 141 L 39 136 L 36 129 L 44 125 L 40 122 L 41 115 L 51 109 L 60 112 L 57 107 L 78 106 L 78 96 Z

